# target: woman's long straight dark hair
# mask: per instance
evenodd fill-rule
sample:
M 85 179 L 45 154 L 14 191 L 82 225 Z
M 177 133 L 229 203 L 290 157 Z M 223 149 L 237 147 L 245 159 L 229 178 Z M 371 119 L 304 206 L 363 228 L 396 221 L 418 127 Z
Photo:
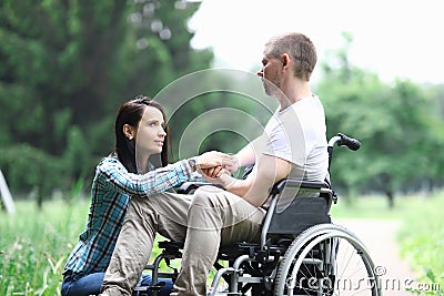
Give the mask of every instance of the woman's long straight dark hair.
M 163 122 L 165 123 L 164 131 L 167 133 L 165 141 L 163 142 L 162 152 L 160 153 L 161 165 L 165 166 L 169 162 L 169 144 L 170 144 L 170 130 L 167 124 L 167 115 L 162 105 L 144 95 L 138 95 L 134 100 L 128 101 L 120 109 L 115 119 L 115 150 L 114 153 L 118 155 L 119 161 L 127 167 L 130 173 L 138 173 L 135 164 L 135 143 L 134 140 L 128 140 L 123 134 L 123 125 L 129 124 L 133 127 L 138 127 L 140 120 L 143 116 L 143 112 L 147 106 L 153 106 L 159 109 L 163 115 Z

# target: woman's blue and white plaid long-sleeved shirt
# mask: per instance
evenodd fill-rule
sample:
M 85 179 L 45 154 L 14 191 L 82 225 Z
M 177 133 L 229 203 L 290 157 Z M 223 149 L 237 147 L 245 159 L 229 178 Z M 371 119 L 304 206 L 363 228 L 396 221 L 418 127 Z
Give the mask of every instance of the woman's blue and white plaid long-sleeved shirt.
M 115 156 L 103 159 L 97 166 L 92 182 L 87 227 L 79 236 L 63 275 L 71 275 L 77 280 L 88 274 L 104 272 L 111 261 L 131 196 L 158 194 L 190 177 L 191 169 L 186 161 L 139 175 L 129 173 Z

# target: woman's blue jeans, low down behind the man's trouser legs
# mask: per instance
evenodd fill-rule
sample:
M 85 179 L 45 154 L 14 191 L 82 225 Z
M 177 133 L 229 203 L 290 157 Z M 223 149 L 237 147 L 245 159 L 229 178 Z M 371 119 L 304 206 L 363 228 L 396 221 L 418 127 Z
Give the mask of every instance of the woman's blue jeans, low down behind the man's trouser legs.
M 72 280 L 70 276 L 65 276 L 62 283 L 62 296 L 89 296 L 99 295 L 102 286 L 104 273 L 95 273 L 85 275 L 78 280 Z M 165 282 L 160 289 L 159 296 L 168 296 L 173 288 L 173 282 L 170 278 L 159 278 L 159 282 Z M 141 286 L 151 285 L 151 275 L 143 274 L 140 280 Z M 137 295 L 133 293 L 133 295 Z M 151 295 L 151 293 L 149 293 Z

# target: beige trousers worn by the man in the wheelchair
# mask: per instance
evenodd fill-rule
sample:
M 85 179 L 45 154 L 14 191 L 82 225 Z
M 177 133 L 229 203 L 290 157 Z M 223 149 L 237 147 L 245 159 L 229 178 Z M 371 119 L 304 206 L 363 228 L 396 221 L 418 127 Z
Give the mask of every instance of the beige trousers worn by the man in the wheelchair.
M 131 295 L 149 262 L 157 233 L 184 242 L 178 295 L 206 295 L 220 246 L 259 242 L 265 213 L 238 195 L 203 186 L 193 195 L 133 197 L 103 279 L 108 295 Z

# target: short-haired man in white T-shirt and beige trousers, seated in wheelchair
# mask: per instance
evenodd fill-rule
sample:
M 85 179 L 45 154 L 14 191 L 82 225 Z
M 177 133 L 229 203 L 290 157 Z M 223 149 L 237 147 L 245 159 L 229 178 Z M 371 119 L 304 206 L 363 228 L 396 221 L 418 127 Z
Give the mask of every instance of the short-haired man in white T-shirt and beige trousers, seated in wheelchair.
M 305 35 L 286 33 L 270 39 L 258 75 L 280 108 L 263 136 L 234 157 L 225 155 L 226 170 L 254 164 L 252 173 L 238 180 L 230 174 L 219 176 L 210 169 L 204 173 L 213 177 L 206 178 L 225 190 L 203 186 L 192 197 L 167 194 L 132 203 L 125 225 L 133 226 L 122 229 L 103 293 L 131 294 L 149 259 L 153 235 L 159 232 L 184 242 L 182 267 L 171 295 L 205 295 L 206 277 L 220 246 L 260 239 L 265 214 L 261 205 L 274 183 L 289 175 L 325 180 L 329 156 L 324 110 L 309 85 L 315 63 L 315 48 Z M 135 239 L 137 247 L 128 239 Z

